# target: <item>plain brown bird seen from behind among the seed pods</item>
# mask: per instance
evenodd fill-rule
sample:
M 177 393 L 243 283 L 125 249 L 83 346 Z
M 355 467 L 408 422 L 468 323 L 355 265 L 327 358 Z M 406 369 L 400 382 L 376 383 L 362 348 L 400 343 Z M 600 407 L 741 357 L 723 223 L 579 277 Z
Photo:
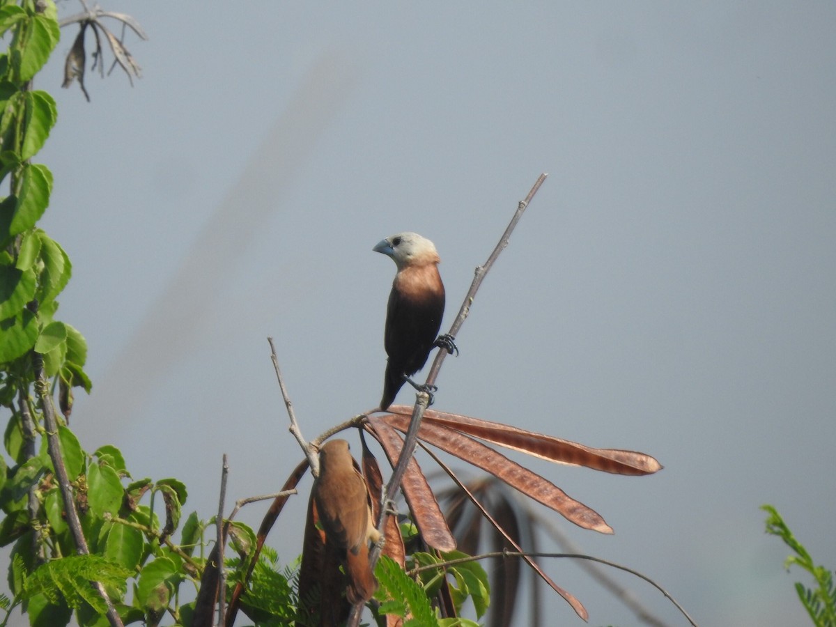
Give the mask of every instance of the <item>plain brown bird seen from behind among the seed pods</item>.
M 345 556 L 349 584 L 346 599 L 365 603 L 377 590 L 377 579 L 369 563 L 369 541 L 378 543 L 380 533 L 371 513 L 371 496 L 345 440 L 329 440 L 319 448 L 319 477 L 311 496 L 325 543 Z

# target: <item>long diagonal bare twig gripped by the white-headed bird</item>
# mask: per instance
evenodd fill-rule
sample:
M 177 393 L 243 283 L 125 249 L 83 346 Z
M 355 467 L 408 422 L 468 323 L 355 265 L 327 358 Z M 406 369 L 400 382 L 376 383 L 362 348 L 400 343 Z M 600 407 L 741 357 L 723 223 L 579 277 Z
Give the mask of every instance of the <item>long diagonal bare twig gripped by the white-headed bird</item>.
M 453 324 L 450 327 L 450 331 L 448 332 L 452 337 L 456 337 L 459 329 L 461 329 L 461 325 L 464 324 L 465 319 L 467 318 L 468 314 L 470 314 L 470 308 L 473 304 L 473 299 L 476 298 L 476 293 L 479 289 L 479 286 L 482 285 L 482 280 L 485 278 L 487 271 L 491 269 L 493 263 L 499 257 L 499 253 L 507 247 L 508 239 L 511 237 L 511 233 L 514 230 L 514 227 L 517 226 L 517 222 L 519 219 L 523 217 L 523 212 L 525 211 L 528 204 L 532 201 L 532 198 L 540 189 L 540 186 L 543 185 L 543 181 L 546 180 L 547 174 L 541 174 L 537 181 L 534 183 L 531 191 L 528 191 L 528 196 L 526 196 L 524 201 L 520 201 L 519 205 L 517 206 L 517 211 L 514 213 L 513 217 L 511 218 L 511 222 L 508 223 L 505 232 L 502 233 L 502 237 L 497 243 L 497 246 L 493 249 L 490 257 L 487 257 L 487 262 L 485 262 L 482 266 L 477 266 L 476 268 L 476 276 L 473 278 L 473 282 L 471 283 L 471 287 L 467 290 L 465 295 L 464 302 L 461 303 L 461 308 L 459 309 L 459 314 L 456 316 L 456 319 L 453 320 Z M 436 382 L 436 377 L 438 376 L 439 370 L 441 370 L 441 364 L 444 362 L 445 357 L 447 356 L 446 349 L 440 349 L 438 354 L 436 354 L 436 359 L 432 362 L 432 367 L 430 369 L 429 375 L 426 378 L 426 385 L 433 385 Z M 404 473 L 406 472 L 406 465 L 410 461 L 413 453 L 415 452 L 415 443 L 418 440 L 418 428 L 421 426 L 421 420 L 424 417 L 424 411 L 427 408 L 429 403 L 430 397 L 426 394 L 426 392 L 419 392 L 416 395 L 416 402 L 415 402 L 415 409 L 412 411 L 412 419 L 410 421 L 410 428 L 406 431 L 406 436 L 404 438 L 404 446 L 400 451 L 400 458 L 398 459 L 398 463 L 395 465 L 395 469 L 392 471 L 392 476 L 390 477 L 389 483 L 386 484 L 385 489 L 385 496 L 384 501 L 380 504 L 380 521 L 378 522 L 378 531 L 383 533 L 384 526 L 385 526 L 385 518 L 386 518 L 386 509 L 385 507 L 387 502 L 392 501 L 395 498 L 395 492 L 398 491 L 400 488 L 400 482 L 404 478 Z M 375 564 L 377 563 L 378 558 L 380 558 L 380 546 L 375 546 L 372 548 L 369 559 L 370 563 Z M 349 627 L 356 627 L 359 624 L 360 614 L 363 612 L 363 604 L 354 605 L 351 609 L 351 614 L 349 616 L 349 620 L 346 624 Z

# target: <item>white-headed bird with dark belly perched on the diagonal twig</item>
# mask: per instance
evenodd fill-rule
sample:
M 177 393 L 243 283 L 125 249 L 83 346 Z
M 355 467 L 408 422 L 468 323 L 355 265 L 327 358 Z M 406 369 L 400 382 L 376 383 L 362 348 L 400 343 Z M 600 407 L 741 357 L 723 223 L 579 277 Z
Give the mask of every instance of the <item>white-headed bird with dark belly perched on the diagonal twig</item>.
M 403 232 L 386 237 L 372 250 L 391 257 L 398 268 L 389 294 L 384 331 L 389 360 L 380 410 L 386 410 L 407 381 L 416 390 L 435 391 L 415 384 L 409 377 L 424 367 L 433 346 L 443 345 L 452 353 L 456 345 L 449 335 L 436 340 L 444 314 L 444 283 L 438 273 L 441 258 L 436 245 L 418 233 Z

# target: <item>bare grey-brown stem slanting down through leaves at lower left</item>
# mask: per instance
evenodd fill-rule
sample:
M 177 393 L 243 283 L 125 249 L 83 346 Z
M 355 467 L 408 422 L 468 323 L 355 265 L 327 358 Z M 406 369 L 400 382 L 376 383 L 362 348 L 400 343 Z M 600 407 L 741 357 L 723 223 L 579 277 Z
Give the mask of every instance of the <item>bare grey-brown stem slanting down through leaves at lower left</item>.
M 69 484 L 67 468 L 64 466 L 64 458 L 61 456 L 58 420 L 55 415 L 55 405 L 52 395 L 49 393 L 49 382 L 43 373 L 43 355 L 33 353 L 32 365 L 35 373 L 35 391 L 38 393 L 38 398 L 41 401 L 41 410 L 43 411 L 43 426 L 46 428 L 49 458 L 53 462 L 55 476 L 58 478 L 61 497 L 64 498 L 64 512 L 66 512 L 67 525 L 69 526 L 70 533 L 73 534 L 76 552 L 79 555 L 88 555 L 90 551 L 87 547 L 87 540 L 84 538 L 81 522 L 79 521 L 79 512 L 75 508 L 73 487 Z M 104 585 L 100 581 L 94 581 L 93 585 L 96 592 L 99 593 L 99 596 L 104 599 L 104 603 L 107 604 L 108 622 L 110 622 L 112 627 L 122 627 L 122 619 L 105 591 Z

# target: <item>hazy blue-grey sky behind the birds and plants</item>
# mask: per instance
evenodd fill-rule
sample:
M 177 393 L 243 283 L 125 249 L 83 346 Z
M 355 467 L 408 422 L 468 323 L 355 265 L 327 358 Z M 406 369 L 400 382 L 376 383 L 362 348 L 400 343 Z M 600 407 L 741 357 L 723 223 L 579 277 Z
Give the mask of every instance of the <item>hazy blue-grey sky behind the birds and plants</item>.
M 36 84 L 59 104 L 43 227 L 74 264 L 60 318 L 89 344 L 88 451 L 180 478 L 202 517 L 222 453 L 227 502 L 277 490 L 300 452 L 267 336 L 306 436 L 370 409 L 395 273 L 371 247 L 436 242 L 446 328 L 547 171 L 436 408 L 656 456 L 644 478 L 526 463 L 615 529 L 553 515 L 584 551 L 698 623 L 806 622 L 808 579 L 758 507 L 836 565 L 836 5 L 102 4 L 149 33 L 126 40 L 144 78 L 89 75 L 89 104 L 58 89 L 72 27 Z M 269 539 L 283 561 L 309 485 Z M 590 624 L 638 624 L 545 564 Z

